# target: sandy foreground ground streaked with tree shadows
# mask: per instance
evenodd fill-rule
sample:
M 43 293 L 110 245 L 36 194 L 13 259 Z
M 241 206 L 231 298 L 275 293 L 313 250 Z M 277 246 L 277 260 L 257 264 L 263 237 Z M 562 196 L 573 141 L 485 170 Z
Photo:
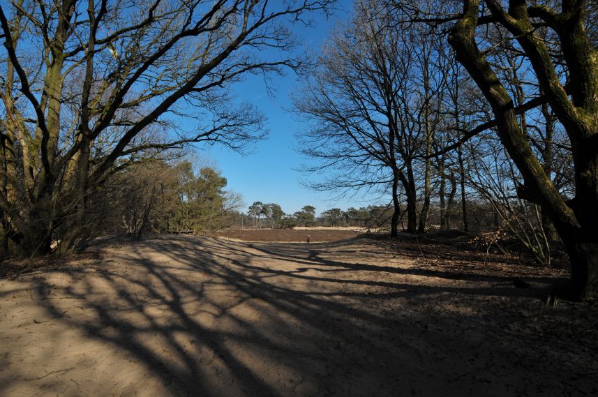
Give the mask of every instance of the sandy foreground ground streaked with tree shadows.
M 0 396 L 598 396 L 563 271 L 426 249 L 178 236 L 0 280 Z

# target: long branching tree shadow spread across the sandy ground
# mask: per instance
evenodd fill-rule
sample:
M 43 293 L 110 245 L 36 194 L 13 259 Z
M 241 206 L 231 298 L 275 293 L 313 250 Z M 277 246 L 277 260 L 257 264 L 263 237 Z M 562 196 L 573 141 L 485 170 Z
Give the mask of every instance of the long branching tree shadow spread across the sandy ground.
M 93 276 L 81 267 L 57 270 L 73 280 L 63 287 L 36 279 L 36 297 L 49 317 L 59 317 L 66 327 L 82 329 L 89 338 L 128 352 L 172 396 L 479 395 L 467 389 L 487 387 L 476 373 L 479 363 L 458 349 L 486 340 L 484 334 L 464 333 L 461 325 L 469 321 L 474 328 L 480 317 L 454 318 L 438 308 L 447 294 L 478 299 L 529 292 L 509 285 L 435 287 L 391 277 L 380 280 L 380 275 L 371 275 L 387 272 L 503 284 L 507 278 L 322 257 L 329 248 L 350 244 L 290 247 L 195 237 L 155 239 L 131 246 L 128 252 L 117 250 L 114 262 L 96 264 Z M 161 257 L 148 256 L 156 252 Z M 348 274 L 352 277 L 345 277 Z M 45 299 L 50 292 L 57 294 L 57 288 L 63 296 L 80 299 L 87 315 L 61 317 L 64 306 Z M 484 313 L 484 308 L 480 310 Z M 435 323 L 438 327 L 428 326 Z M 451 347 L 450 340 L 456 338 L 459 344 Z M 488 341 L 484 349 L 507 357 L 509 365 L 525 360 L 518 353 L 525 342 L 516 337 L 507 342 Z M 465 354 L 465 358 L 454 368 L 438 364 L 439 354 Z M 551 362 L 532 362 L 530 370 L 512 375 L 516 386 L 499 385 L 497 393 L 508 396 L 529 390 L 529 395 L 557 396 L 558 379 L 547 381 L 537 375 Z M 570 375 L 576 364 L 567 364 L 564 370 L 563 376 Z

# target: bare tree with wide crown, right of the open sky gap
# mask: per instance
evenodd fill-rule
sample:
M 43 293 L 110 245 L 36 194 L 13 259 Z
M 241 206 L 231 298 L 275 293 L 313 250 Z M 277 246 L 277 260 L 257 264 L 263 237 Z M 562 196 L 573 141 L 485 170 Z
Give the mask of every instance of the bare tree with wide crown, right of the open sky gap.
M 321 160 L 310 171 L 334 171 L 334 177 L 312 186 L 390 185 L 391 234 L 396 236 L 401 188 L 407 230 L 417 230 L 418 158 L 425 157 L 421 150 L 431 151 L 432 102 L 438 85 L 432 84 L 437 76 L 428 70 L 430 43 L 417 38 L 421 31 L 393 29 L 385 7 L 383 1 L 357 3 L 354 20 L 324 47 L 321 67 L 295 105 L 306 121 L 313 121 L 311 130 L 299 133 L 303 153 Z M 429 161 L 425 163 L 429 206 Z M 421 231 L 427 211 L 424 205 Z

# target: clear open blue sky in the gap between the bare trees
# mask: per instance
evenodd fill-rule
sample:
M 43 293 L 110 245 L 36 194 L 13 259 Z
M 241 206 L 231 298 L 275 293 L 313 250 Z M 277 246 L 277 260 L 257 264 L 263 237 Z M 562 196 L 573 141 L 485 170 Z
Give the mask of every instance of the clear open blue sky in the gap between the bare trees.
M 304 45 L 315 52 L 320 50 L 336 24 L 347 19 L 351 3 L 351 0 L 339 1 L 338 10 L 329 20 L 314 15 L 314 27 L 298 27 L 296 32 Z M 308 159 L 294 150 L 293 134 L 300 130 L 301 124 L 296 114 L 288 112 L 290 93 L 299 89 L 301 82 L 293 73 L 287 73 L 285 77 L 274 77 L 271 87 L 276 89 L 274 96 L 268 96 L 262 77 L 250 77 L 234 86 L 239 100 L 251 101 L 266 114 L 270 131 L 267 140 L 258 142 L 255 151 L 248 156 L 218 146 L 199 151 L 199 156 L 216 163 L 228 181 L 227 188 L 241 193 L 247 206 L 255 201 L 276 202 L 283 211 L 292 214 L 306 204 L 316 207 L 318 213 L 333 207 L 367 205 L 368 202 L 358 200 L 359 197 L 330 200 L 334 194 L 316 193 L 301 185 L 300 181 L 308 176 L 297 169 Z

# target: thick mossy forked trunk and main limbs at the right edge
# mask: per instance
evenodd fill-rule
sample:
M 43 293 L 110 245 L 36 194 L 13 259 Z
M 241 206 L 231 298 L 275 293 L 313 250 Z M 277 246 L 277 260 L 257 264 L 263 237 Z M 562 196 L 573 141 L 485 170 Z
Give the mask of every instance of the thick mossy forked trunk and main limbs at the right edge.
M 565 202 L 546 175 L 518 125 L 514 104 L 475 41 L 478 1 L 464 2 L 463 17 L 454 24 L 449 43 L 490 103 L 500 141 L 516 163 L 533 198 L 551 216 L 571 260 L 571 293 L 580 299 L 598 297 L 598 57 L 585 32 L 585 3 L 563 3 L 569 15 L 559 24 L 563 54 L 570 66 L 569 90 L 551 62 L 544 41 L 535 36 L 525 2 L 511 2 L 509 14 L 498 2 L 488 3 L 493 17 L 507 28 L 530 59 L 541 89 L 571 141 L 575 197 Z M 566 12 L 565 12 L 566 11 Z M 509 15 L 507 17 L 507 15 Z

